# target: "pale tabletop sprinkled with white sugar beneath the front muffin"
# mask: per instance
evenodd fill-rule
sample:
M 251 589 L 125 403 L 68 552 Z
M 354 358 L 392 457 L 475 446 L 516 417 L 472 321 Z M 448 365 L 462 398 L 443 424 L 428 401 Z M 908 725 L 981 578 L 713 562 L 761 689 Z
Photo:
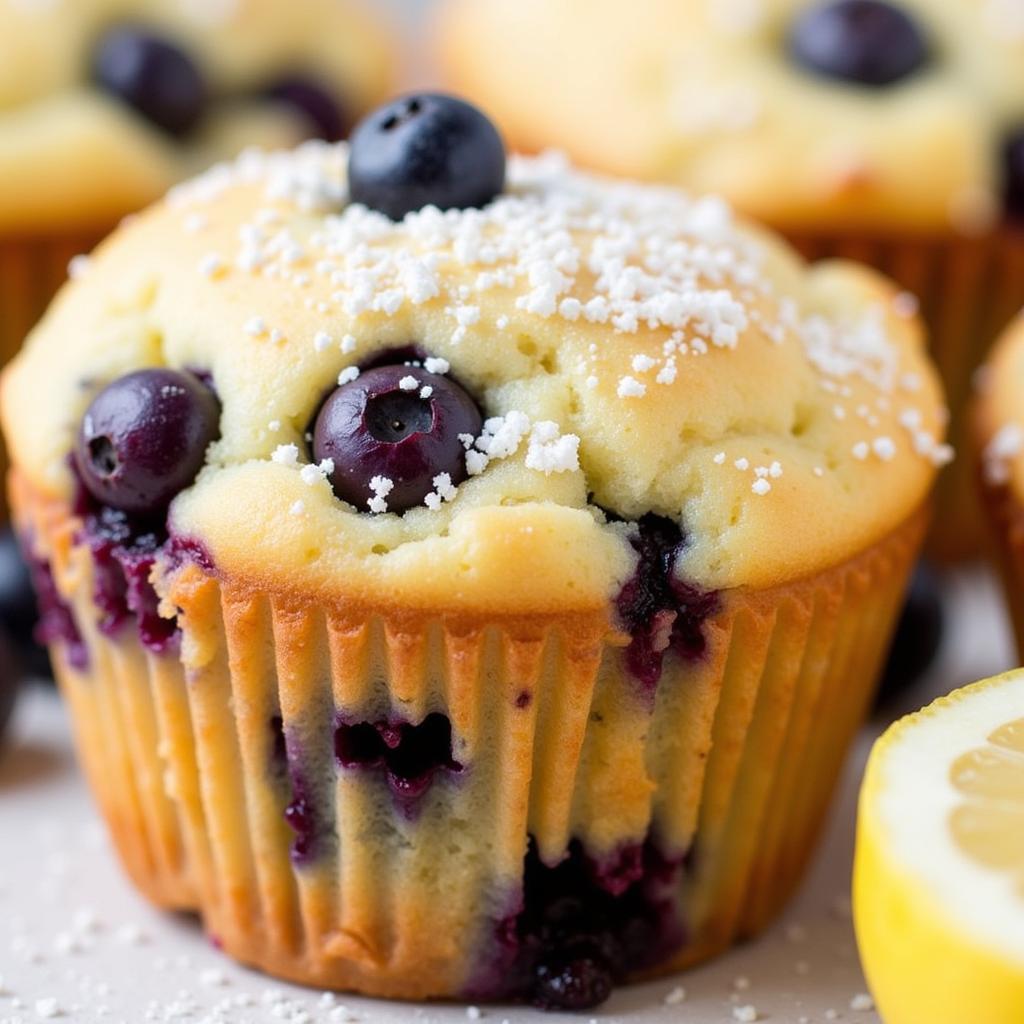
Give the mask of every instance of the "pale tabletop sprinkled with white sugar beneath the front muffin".
M 949 581 L 950 628 L 916 707 L 1008 667 L 1013 654 L 987 579 Z M 851 1002 L 865 992 L 849 912 L 857 783 L 874 722 L 851 759 L 814 868 L 785 918 L 758 941 L 676 979 L 620 989 L 593 1015 L 481 1008 L 482 1019 L 729 1024 L 878 1021 Z M 33 687 L 0 755 L 0 1024 L 453 1024 L 466 1007 L 410 1007 L 323 996 L 237 967 L 194 919 L 150 908 L 121 874 L 75 766 L 63 709 Z M 685 999 L 667 1004 L 677 985 Z M 859 1005 L 859 1004 L 857 1004 Z M 475 1014 L 474 1014 L 475 1016 Z M 739 1014 L 742 1018 L 744 1015 Z

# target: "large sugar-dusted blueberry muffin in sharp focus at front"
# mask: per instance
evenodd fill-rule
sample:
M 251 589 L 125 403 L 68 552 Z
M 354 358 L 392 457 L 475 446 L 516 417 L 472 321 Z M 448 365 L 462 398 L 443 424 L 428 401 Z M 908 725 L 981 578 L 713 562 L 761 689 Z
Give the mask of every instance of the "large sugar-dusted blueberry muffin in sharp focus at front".
M 139 888 L 282 977 L 561 1009 L 778 911 L 948 459 L 873 271 L 434 94 L 123 227 L 2 413 Z

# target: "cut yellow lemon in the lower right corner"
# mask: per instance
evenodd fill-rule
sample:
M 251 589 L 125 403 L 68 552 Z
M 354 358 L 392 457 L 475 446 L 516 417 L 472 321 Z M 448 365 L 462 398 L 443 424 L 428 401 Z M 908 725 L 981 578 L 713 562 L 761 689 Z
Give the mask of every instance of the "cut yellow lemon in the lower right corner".
M 854 913 L 886 1024 L 1024 1022 L 1024 670 L 876 743 Z

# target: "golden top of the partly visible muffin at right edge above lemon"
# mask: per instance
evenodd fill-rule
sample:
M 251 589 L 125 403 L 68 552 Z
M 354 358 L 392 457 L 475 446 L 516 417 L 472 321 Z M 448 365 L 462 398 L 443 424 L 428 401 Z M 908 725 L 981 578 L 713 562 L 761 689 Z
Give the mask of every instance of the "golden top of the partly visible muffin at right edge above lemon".
M 985 482 L 1024 495 L 1024 312 L 978 373 L 977 428 Z

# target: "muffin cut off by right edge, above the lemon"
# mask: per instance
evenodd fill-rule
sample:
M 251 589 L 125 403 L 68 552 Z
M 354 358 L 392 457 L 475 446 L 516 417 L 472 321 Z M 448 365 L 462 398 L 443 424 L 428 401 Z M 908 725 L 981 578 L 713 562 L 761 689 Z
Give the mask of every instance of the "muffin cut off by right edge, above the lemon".
M 974 467 L 1017 645 L 1024 653 L 1024 315 L 1002 333 L 978 376 Z

